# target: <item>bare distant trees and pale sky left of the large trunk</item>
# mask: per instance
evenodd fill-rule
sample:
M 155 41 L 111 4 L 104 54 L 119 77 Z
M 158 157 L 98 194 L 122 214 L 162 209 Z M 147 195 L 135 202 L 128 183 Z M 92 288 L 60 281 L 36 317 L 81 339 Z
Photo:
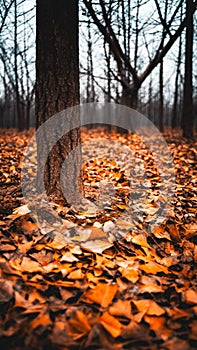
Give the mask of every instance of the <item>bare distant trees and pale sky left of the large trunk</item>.
M 0 0 L 1 128 L 34 124 L 34 18 L 31 2 Z

